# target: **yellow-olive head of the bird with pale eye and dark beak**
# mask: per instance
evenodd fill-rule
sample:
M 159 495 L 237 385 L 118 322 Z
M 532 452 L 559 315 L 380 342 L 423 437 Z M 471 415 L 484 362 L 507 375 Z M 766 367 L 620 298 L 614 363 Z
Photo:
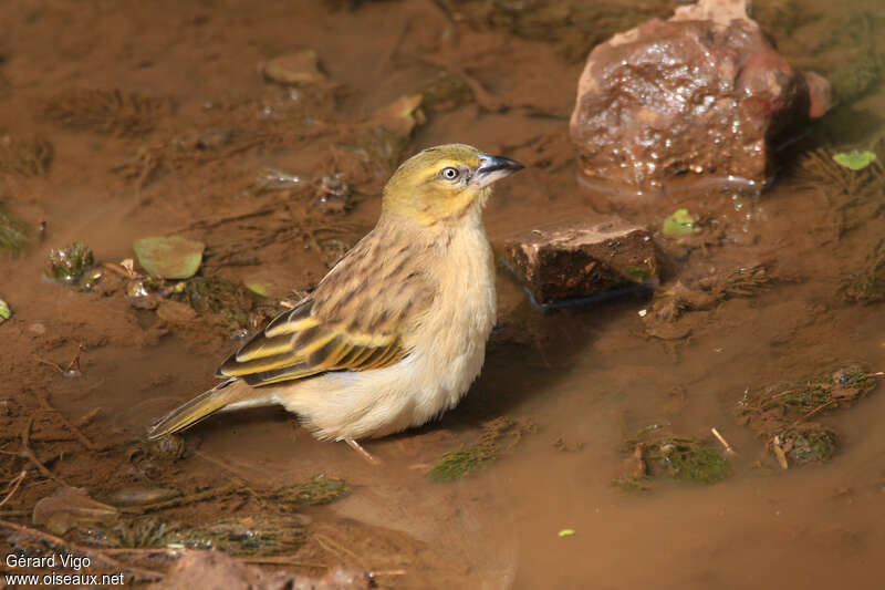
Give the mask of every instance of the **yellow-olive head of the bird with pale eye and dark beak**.
M 469 145 L 430 147 L 397 168 L 384 187 L 383 207 L 425 225 L 457 219 L 471 205 L 485 205 L 492 183 L 523 167 Z

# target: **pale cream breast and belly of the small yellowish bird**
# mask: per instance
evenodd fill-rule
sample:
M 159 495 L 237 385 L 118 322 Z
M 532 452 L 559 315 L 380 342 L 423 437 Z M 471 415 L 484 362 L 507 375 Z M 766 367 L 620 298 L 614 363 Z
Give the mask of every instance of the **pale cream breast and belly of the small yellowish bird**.
M 494 325 L 494 267 L 481 226 L 452 241 L 440 293 L 385 369 L 331 372 L 281 385 L 274 398 L 317 438 L 372 438 L 418 426 L 454 407 L 479 375 Z

